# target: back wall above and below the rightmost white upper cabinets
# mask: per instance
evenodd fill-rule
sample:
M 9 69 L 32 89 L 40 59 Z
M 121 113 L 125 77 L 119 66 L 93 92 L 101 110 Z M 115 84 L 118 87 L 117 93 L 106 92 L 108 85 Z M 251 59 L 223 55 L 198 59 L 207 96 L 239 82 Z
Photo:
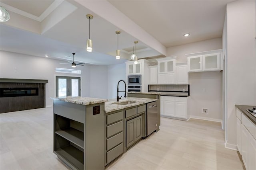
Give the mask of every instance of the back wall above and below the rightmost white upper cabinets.
M 208 39 L 167 49 L 168 56 L 177 56 L 177 63 L 187 62 L 186 54 L 222 49 L 222 38 Z M 222 72 L 189 73 L 190 117 L 222 121 Z M 205 89 L 205 91 L 204 91 Z M 208 114 L 202 113 L 208 109 Z

